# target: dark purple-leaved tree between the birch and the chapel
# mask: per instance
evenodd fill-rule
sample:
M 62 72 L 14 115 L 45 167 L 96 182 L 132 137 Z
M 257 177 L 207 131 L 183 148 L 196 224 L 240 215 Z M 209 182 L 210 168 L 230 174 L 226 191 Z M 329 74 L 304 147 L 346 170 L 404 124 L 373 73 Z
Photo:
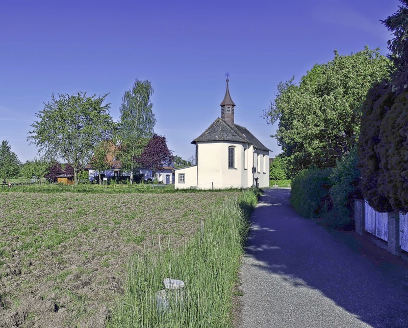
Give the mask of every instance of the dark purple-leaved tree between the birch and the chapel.
M 155 134 L 143 149 L 139 162 L 143 168 L 157 171 L 163 170 L 164 166 L 169 166 L 171 159 L 171 151 L 167 147 L 166 137 Z

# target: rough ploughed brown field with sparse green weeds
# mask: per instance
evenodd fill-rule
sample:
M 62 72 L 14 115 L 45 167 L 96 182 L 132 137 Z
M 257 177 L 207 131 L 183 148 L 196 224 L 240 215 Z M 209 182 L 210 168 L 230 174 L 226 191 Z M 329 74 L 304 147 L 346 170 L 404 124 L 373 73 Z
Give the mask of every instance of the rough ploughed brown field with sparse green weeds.
M 103 326 L 129 256 L 194 235 L 238 192 L 0 194 L 0 326 Z

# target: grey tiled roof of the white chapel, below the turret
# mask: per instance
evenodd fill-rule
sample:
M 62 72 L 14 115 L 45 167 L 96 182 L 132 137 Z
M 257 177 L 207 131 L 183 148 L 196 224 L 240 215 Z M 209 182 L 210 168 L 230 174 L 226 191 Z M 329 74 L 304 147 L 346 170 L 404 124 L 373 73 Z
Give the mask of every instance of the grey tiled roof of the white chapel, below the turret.
M 257 149 L 270 151 L 249 132 L 247 128 L 237 124 L 231 126 L 219 117 L 198 138 L 194 139 L 192 144 L 195 144 L 197 141 L 234 141 L 250 143 Z

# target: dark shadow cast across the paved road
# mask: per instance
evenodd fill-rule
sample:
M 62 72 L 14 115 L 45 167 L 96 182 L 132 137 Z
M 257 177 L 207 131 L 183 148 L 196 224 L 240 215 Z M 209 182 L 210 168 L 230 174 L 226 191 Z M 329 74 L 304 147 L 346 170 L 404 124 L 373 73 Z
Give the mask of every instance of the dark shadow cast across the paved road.
M 253 266 L 295 288 L 317 289 L 373 327 L 408 327 L 408 266 L 375 262 L 350 234 L 330 233 L 291 207 L 290 190 L 268 189 L 251 216 Z M 379 252 L 383 252 L 378 249 Z

